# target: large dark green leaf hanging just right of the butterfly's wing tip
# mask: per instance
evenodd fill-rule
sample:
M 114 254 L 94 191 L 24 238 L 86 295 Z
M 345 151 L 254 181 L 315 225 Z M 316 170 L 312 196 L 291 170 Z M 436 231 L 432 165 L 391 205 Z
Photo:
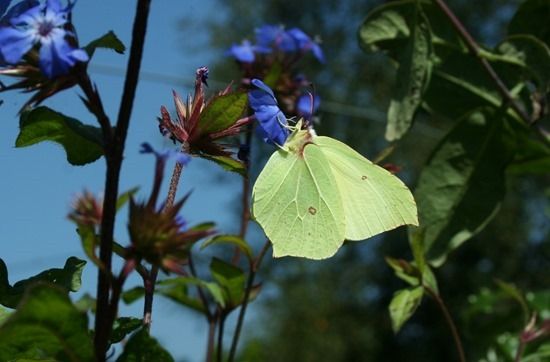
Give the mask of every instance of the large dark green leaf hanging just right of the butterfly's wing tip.
M 511 151 L 503 115 L 477 111 L 462 119 L 432 152 L 420 174 L 415 199 L 427 259 L 441 265 L 447 254 L 481 231 L 505 192 Z

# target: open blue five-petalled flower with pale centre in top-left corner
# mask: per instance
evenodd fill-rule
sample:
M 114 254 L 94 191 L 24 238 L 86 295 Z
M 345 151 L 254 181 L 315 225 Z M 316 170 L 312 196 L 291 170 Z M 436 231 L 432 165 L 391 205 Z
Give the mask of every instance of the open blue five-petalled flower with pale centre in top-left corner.
M 0 54 L 9 64 L 17 64 L 36 44 L 40 44 L 40 70 L 48 77 L 67 74 L 76 62 L 86 62 L 88 54 L 70 45 L 65 30 L 71 3 L 65 8 L 59 0 L 47 0 L 9 19 L 10 26 L 0 28 Z

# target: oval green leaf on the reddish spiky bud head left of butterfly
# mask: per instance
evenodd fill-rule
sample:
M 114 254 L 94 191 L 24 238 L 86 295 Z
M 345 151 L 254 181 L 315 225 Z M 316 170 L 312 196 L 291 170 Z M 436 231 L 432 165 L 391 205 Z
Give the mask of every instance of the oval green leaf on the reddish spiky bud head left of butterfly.
M 239 120 L 246 107 L 248 97 L 245 92 L 233 92 L 212 99 L 199 120 L 199 133 L 211 134 L 231 127 Z

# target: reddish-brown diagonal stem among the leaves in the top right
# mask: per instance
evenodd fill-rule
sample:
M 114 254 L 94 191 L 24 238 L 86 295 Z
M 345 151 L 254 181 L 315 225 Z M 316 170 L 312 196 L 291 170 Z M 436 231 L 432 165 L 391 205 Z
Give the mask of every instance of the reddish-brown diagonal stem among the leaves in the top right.
M 516 102 L 516 100 L 514 99 L 512 94 L 510 94 L 510 91 L 508 90 L 508 88 L 506 87 L 502 79 L 500 79 L 500 77 L 495 72 L 491 64 L 487 61 L 487 59 L 481 56 L 479 45 L 477 45 L 474 38 L 472 38 L 470 33 L 468 33 L 468 30 L 466 30 L 464 25 L 460 22 L 460 20 L 458 20 L 456 15 L 447 6 L 444 0 L 435 0 L 435 2 L 439 6 L 441 11 L 443 11 L 443 13 L 447 16 L 447 18 L 449 18 L 449 21 L 451 22 L 455 30 L 458 32 L 460 37 L 464 40 L 470 52 L 481 63 L 481 66 L 483 67 L 483 69 L 485 69 L 485 71 L 487 72 L 487 74 L 489 75 L 493 83 L 495 83 L 497 90 L 499 91 L 501 96 L 506 100 L 506 102 L 512 107 L 512 109 L 521 117 L 521 119 L 525 123 L 530 124 L 531 119 L 529 115 Z

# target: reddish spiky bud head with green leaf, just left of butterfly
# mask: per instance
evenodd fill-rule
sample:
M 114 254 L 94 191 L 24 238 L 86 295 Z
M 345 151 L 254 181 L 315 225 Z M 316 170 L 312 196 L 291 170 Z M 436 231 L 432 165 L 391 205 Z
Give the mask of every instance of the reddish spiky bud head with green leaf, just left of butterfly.
M 177 118 L 172 119 L 166 107 L 160 109 L 158 118 L 160 132 L 174 142 L 182 144 L 186 153 L 201 156 L 215 162 L 223 161 L 234 165 L 231 145 L 218 141 L 239 134 L 243 127 L 253 121 L 251 117 L 240 118 L 247 107 L 246 93 L 232 92 L 231 85 L 208 101 L 205 100 L 204 85 L 208 68 L 197 69 L 195 93 L 184 102 L 174 92 Z M 237 171 L 237 170 L 233 170 Z

